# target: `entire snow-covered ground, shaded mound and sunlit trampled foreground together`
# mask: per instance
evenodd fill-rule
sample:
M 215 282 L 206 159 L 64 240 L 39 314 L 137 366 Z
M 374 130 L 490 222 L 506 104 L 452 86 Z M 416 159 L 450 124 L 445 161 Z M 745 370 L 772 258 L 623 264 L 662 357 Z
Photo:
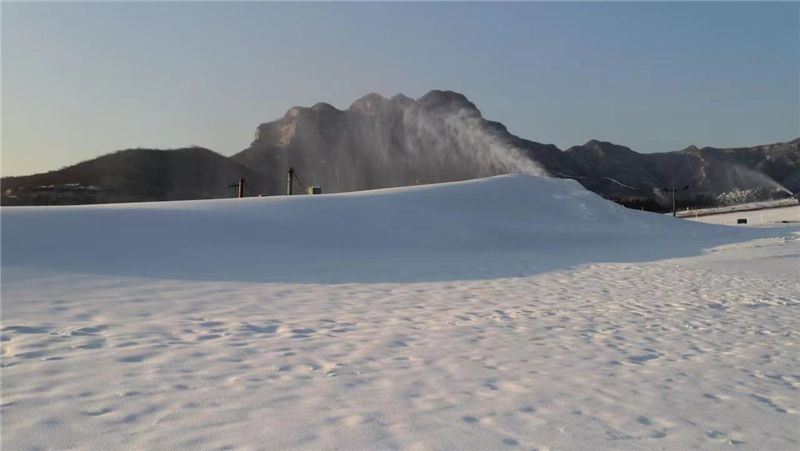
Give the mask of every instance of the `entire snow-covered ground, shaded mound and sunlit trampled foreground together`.
M 524 176 L 1 219 L 4 449 L 800 446 L 796 228 Z

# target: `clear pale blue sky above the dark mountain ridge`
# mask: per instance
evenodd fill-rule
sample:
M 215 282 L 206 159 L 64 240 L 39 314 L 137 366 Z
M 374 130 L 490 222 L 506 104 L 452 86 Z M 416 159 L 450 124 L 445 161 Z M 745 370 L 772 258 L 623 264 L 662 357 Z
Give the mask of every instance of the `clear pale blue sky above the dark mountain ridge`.
M 430 89 L 641 152 L 800 136 L 800 3 L 3 3 L 2 173 Z

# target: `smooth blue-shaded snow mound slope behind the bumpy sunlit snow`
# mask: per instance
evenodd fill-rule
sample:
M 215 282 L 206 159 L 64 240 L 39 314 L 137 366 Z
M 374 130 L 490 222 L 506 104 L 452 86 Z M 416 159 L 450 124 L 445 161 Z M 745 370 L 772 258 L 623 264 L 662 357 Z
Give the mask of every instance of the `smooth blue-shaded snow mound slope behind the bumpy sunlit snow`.
M 4 266 L 166 279 L 432 281 L 658 260 L 774 234 L 524 175 L 323 196 L 2 211 Z

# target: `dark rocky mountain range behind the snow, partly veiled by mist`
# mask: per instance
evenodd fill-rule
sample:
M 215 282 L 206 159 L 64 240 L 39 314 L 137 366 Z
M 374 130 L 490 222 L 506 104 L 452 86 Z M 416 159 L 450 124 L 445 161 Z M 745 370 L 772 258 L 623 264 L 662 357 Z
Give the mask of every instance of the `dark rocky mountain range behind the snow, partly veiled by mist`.
M 5 177 L 3 205 L 74 204 L 230 197 L 244 178 L 249 194 L 320 186 L 343 192 L 522 172 L 571 178 L 628 206 L 663 210 L 663 188 L 679 203 L 705 207 L 800 191 L 800 138 L 718 149 L 637 153 L 591 140 L 561 150 L 511 134 L 483 118 L 464 95 L 430 91 L 419 99 L 366 95 L 346 110 L 294 107 L 256 128 L 231 157 L 191 147 L 128 149 L 57 171 Z

